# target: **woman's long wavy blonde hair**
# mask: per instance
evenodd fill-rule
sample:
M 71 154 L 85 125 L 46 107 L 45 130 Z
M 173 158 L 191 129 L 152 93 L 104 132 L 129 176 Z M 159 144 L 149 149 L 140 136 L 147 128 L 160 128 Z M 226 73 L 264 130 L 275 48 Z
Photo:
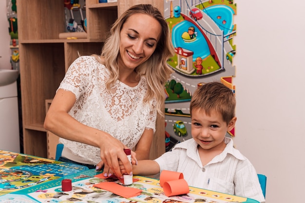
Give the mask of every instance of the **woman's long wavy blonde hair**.
M 105 58 L 104 65 L 110 71 L 107 88 L 110 89 L 119 77 L 117 56 L 119 55 L 120 31 L 126 20 L 133 14 L 149 15 L 155 18 L 162 28 L 161 37 L 157 42 L 155 51 L 149 59 L 135 68 L 135 72 L 138 76 L 145 76 L 147 80 L 148 91 L 144 97 L 144 102 L 155 98 L 157 100 L 158 113 L 164 115 L 164 108 L 162 109 L 165 101 L 164 85 L 172 74 L 172 69 L 168 66 L 167 60 L 174 55 L 174 48 L 166 19 L 151 4 L 134 5 L 114 22 L 101 53 L 101 56 Z M 99 58 L 97 59 L 99 60 Z

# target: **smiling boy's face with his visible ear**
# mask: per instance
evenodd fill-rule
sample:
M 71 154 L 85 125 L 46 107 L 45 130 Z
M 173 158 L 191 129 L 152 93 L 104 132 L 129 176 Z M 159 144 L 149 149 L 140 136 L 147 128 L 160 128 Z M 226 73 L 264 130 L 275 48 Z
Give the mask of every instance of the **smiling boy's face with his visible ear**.
M 193 109 L 191 112 L 191 136 L 204 150 L 223 150 L 224 138 L 227 131 L 235 126 L 236 117 L 229 125 L 223 120 L 221 113 L 211 111 L 207 115 L 204 111 Z

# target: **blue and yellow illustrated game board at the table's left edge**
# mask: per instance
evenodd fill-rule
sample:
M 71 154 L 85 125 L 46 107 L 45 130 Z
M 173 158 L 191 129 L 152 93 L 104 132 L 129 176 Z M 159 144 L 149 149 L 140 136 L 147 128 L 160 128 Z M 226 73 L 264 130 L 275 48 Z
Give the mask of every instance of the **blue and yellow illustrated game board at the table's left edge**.
M 0 196 L 85 170 L 88 167 L 0 149 Z

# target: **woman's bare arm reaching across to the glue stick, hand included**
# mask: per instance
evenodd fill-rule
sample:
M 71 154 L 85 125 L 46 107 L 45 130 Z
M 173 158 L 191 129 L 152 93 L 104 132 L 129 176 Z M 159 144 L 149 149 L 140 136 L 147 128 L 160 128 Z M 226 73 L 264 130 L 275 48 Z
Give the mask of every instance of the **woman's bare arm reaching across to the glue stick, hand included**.
M 122 176 L 118 159 L 130 173 L 132 168 L 123 150 L 126 147 L 109 133 L 88 127 L 74 119 L 68 112 L 75 102 L 74 93 L 59 89 L 47 112 L 43 127 L 64 139 L 100 148 L 103 164 L 108 165 L 117 176 Z

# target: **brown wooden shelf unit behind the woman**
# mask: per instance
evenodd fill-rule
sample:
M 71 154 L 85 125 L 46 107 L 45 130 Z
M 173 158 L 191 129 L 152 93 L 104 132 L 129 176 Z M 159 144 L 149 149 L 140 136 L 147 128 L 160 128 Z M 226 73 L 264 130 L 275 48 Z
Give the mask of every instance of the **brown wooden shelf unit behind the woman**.
M 138 3 L 164 10 L 163 0 L 86 0 L 87 38 L 59 39 L 66 32 L 64 0 L 17 0 L 23 148 L 25 154 L 50 158 L 43 128 L 50 104 L 71 63 L 79 55 L 100 54 L 107 33 L 118 15 Z M 151 159 L 165 152 L 164 118 L 158 116 Z M 52 150 L 52 151 L 49 151 Z

